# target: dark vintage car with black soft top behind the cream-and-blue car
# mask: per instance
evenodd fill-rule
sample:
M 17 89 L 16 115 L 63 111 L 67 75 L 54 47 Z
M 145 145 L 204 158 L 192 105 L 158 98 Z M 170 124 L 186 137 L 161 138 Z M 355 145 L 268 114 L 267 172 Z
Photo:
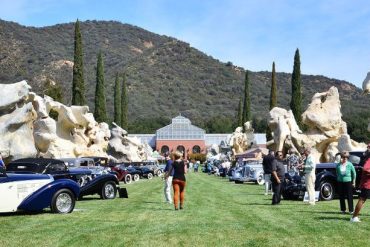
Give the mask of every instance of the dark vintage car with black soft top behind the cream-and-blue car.
M 113 174 L 102 174 L 95 178 L 89 169 L 69 169 L 64 161 L 57 159 L 19 159 L 7 165 L 7 172 L 50 174 L 55 180 L 72 179 L 80 185 L 79 198 L 86 195 L 99 194 L 102 199 L 114 199 L 117 195 L 119 182 Z M 121 195 L 121 193 L 120 193 Z

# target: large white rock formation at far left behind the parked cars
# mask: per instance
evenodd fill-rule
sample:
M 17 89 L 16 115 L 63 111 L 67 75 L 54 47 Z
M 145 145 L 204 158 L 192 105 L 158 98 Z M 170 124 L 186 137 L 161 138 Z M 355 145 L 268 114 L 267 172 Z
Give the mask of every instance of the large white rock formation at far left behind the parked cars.
M 0 152 L 5 159 L 105 156 L 109 126 L 87 106 L 68 107 L 30 92 L 26 81 L 0 84 Z M 57 120 L 49 116 L 58 113 Z

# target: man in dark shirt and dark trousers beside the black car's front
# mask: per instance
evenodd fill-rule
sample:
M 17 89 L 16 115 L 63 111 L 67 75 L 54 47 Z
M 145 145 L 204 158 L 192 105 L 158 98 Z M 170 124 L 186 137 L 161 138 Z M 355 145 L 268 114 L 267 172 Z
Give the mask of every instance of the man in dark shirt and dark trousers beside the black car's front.
M 271 182 L 272 182 L 272 205 L 280 204 L 282 181 L 285 176 L 285 167 L 283 161 L 283 152 L 276 152 L 276 158 L 271 166 Z

